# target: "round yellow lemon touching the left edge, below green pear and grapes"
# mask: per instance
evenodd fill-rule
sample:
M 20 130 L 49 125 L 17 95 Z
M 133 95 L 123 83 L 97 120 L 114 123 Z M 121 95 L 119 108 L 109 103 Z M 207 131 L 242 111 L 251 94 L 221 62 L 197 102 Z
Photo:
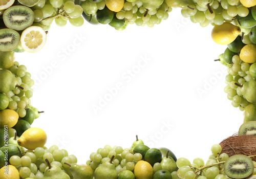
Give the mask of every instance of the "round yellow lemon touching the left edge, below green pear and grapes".
M 0 110 L 0 127 L 12 128 L 18 122 L 18 114 L 15 110 L 4 109 Z

